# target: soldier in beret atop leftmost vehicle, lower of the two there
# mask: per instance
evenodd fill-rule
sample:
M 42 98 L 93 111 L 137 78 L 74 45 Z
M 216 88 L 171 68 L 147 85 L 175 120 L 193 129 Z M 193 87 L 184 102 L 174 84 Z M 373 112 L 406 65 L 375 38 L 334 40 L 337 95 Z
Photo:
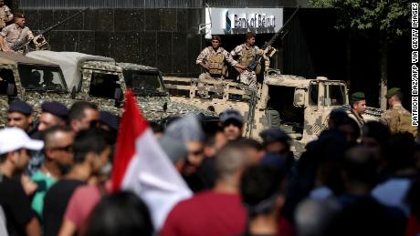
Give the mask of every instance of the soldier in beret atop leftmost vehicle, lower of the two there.
M 22 41 L 30 41 L 34 38 L 31 30 L 25 26 L 25 16 L 15 14 L 15 24 L 5 26 L 0 33 L 0 47 L 5 52 L 14 52 L 12 48 Z M 23 49 L 18 49 L 23 54 Z

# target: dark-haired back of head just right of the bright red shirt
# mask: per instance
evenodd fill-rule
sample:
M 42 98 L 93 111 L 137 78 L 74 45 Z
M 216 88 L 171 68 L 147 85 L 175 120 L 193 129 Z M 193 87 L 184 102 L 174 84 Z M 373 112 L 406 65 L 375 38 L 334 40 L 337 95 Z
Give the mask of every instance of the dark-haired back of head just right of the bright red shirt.
M 282 191 L 283 173 L 263 166 L 249 167 L 241 179 L 242 200 L 251 217 L 267 213 Z M 271 201 L 271 202 L 269 202 Z

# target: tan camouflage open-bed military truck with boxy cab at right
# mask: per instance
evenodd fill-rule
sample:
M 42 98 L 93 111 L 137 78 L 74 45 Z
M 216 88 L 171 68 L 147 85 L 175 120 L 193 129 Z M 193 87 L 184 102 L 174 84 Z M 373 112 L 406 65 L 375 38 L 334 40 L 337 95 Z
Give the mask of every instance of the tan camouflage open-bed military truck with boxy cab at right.
M 349 108 L 344 81 L 281 75 L 274 69 L 268 69 L 263 83 L 255 89 L 233 80 L 198 81 L 188 77 L 163 77 L 163 80 L 173 100 L 215 108 L 217 114 L 226 108 L 239 110 L 247 120 L 245 137 L 260 139 L 260 131 L 281 128 L 289 134 L 291 149 L 298 155 L 327 128 L 332 109 Z M 377 119 L 380 115 L 378 112 L 376 117 L 363 117 Z

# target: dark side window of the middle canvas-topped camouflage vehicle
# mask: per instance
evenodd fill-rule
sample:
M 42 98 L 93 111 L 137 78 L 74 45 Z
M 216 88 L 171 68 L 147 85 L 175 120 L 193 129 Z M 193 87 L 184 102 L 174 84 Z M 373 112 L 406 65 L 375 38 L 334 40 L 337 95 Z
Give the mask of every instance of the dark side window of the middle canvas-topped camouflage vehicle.
M 113 99 L 117 88 L 121 88 L 120 77 L 118 75 L 98 72 L 92 73 L 89 96 Z

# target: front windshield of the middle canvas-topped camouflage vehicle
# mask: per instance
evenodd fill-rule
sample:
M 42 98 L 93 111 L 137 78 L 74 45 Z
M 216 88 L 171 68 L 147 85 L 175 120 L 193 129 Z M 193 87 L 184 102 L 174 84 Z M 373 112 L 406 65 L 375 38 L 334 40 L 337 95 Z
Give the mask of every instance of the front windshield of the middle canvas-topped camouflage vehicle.
M 127 87 L 131 87 L 136 96 L 166 96 L 161 82 L 161 77 L 158 73 L 148 73 L 138 70 L 124 70 L 123 74 Z

